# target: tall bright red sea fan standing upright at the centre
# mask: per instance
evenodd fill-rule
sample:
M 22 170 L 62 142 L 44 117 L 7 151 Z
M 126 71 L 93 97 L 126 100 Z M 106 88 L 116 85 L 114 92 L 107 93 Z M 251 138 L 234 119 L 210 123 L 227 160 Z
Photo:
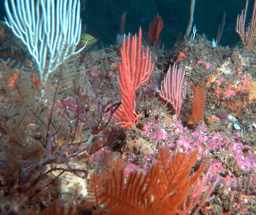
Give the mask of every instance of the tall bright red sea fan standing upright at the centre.
M 140 114 L 135 113 L 135 93 L 150 77 L 154 64 L 151 63 L 149 49 L 142 52 L 142 32 L 139 31 L 138 38 L 128 35 L 127 42 L 123 40 L 121 54 L 122 62 L 119 64 L 118 84 L 121 89 L 122 104 L 113 114 L 118 120 L 116 123 L 124 128 L 131 128 L 137 122 Z M 131 43 L 130 43 L 131 40 Z

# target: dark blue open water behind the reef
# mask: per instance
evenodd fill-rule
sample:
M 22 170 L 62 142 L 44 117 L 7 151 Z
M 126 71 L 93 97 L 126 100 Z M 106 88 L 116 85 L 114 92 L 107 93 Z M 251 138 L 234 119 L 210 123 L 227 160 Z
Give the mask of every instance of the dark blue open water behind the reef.
M 216 39 L 224 11 L 227 12 L 226 24 L 220 44 L 234 46 L 240 38 L 235 32 L 237 14 L 244 9 L 246 0 L 196 0 L 194 24 L 198 34 L 206 34 L 208 40 Z M 253 0 L 249 0 L 248 23 L 252 17 Z M 85 4 L 85 10 L 82 9 Z M 4 5 L 4 0 L 0 0 Z M 139 27 L 148 32 L 149 23 L 159 13 L 164 21 L 160 38 L 165 49 L 172 49 L 175 42 L 181 41 L 190 18 L 190 0 L 81 0 L 81 18 L 87 24 L 87 33 L 98 39 L 102 45 L 115 43 L 120 30 L 121 16 L 126 11 L 125 33 L 135 34 Z M 4 7 L 0 7 L 0 20 L 6 16 Z

